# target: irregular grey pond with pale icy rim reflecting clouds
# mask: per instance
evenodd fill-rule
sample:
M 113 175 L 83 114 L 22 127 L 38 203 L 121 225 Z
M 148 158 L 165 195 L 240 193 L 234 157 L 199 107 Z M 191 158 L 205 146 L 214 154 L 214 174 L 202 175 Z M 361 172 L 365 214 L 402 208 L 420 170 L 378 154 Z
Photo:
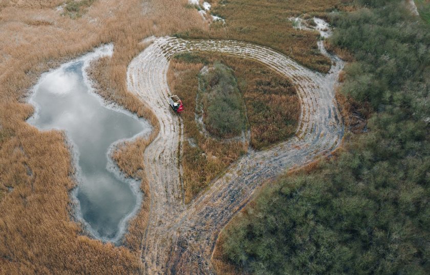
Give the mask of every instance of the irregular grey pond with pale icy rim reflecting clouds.
M 119 172 L 111 152 L 125 139 L 146 135 L 149 123 L 106 105 L 91 88 L 90 61 L 112 55 L 105 45 L 42 75 L 30 98 L 36 112 L 28 123 L 40 130 L 63 130 L 72 147 L 78 185 L 72 191 L 75 218 L 102 241 L 118 242 L 141 205 L 140 182 Z M 143 152 L 142 152 L 143 156 Z

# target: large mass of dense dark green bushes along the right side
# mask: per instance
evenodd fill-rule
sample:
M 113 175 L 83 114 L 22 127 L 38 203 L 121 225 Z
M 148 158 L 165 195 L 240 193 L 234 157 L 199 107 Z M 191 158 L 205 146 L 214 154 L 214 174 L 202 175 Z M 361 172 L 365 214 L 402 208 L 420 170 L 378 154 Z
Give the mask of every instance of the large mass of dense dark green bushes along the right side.
M 402 1 L 359 4 L 331 43 L 354 54 L 341 93 L 369 102 L 368 132 L 227 226 L 225 256 L 252 273 L 430 273 L 430 31 Z

